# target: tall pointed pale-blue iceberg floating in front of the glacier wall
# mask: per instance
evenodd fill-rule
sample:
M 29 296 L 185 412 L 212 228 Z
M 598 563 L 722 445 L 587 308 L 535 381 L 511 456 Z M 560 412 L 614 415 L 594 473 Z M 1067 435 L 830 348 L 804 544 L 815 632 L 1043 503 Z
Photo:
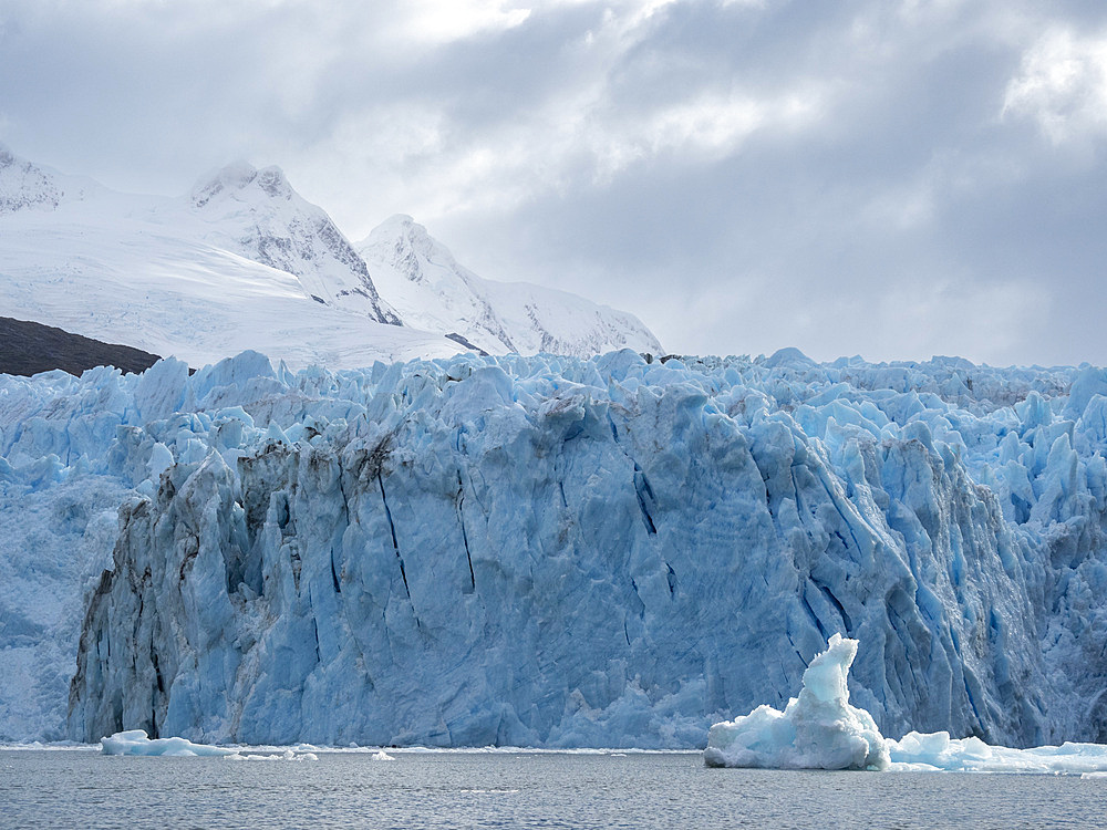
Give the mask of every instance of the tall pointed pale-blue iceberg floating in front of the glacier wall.
M 804 672 L 804 687 L 784 712 L 768 705 L 715 724 L 707 734 L 710 767 L 887 769 L 888 741 L 865 709 L 849 705 L 846 679 L 857 641 L 832 634 Z

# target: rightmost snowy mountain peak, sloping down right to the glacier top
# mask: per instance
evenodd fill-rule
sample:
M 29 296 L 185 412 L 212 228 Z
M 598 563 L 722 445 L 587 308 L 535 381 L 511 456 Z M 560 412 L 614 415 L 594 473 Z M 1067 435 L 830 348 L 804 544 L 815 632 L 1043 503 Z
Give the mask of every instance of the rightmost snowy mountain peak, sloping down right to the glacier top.
M 662 351 L 633 314 L 541 286 L 477 277 L 410 216 L 375 228 L 358 251 L 404 320 L 492 354 Z

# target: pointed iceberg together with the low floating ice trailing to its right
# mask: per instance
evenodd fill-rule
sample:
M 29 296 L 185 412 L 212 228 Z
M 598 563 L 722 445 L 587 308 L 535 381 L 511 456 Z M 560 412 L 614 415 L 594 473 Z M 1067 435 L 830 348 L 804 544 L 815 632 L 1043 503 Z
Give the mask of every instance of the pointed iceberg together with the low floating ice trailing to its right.
M 715 724 L 708 767 L 856 769 L 869 771 L 1044 772 L 1107 771 L 1107 746 L 1073 744 L 1014 749 L 946 732 L 886 738 L 872 716 L 851 706 L 847 679 L 858 641 L 834 634 L 804 672 L 804 687 L 784 712 L 768 705 Z

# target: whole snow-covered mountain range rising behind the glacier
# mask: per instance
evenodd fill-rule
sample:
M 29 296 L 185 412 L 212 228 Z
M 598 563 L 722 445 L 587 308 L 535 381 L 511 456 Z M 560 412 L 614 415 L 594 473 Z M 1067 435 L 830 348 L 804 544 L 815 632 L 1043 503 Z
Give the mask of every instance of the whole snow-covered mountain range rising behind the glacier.
M 230 165 L 183 197 L 158 198 L 113 193 L 0 148 L 0 315 L 193 365 L 245 349 L 332 369 L 466 347 L 660 351 L 632 315 L 479 280 L 422 229 L 425 252 L 416 252 L 414 227 L 385 224 L 371 246 L 381 260 L 366 263 L 276 167 Z M 417 274 L 402 268 L 401 249 L 413 251 L 416 270 L 453 269 L 438 280 L 441 295 L 426 280 L 411 289 Z M 472 300 L 457 288 L 469 284 Z

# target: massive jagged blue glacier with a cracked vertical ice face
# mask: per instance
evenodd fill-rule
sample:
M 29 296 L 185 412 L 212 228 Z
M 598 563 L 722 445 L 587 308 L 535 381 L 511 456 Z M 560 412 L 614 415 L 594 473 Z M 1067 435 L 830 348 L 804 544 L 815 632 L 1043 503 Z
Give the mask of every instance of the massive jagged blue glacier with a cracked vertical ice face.
M 0 376 L 0 739 L 703 747 L 840 634 L 883 735 L 1101 741 L 1105 442 L 1087 365 Z

